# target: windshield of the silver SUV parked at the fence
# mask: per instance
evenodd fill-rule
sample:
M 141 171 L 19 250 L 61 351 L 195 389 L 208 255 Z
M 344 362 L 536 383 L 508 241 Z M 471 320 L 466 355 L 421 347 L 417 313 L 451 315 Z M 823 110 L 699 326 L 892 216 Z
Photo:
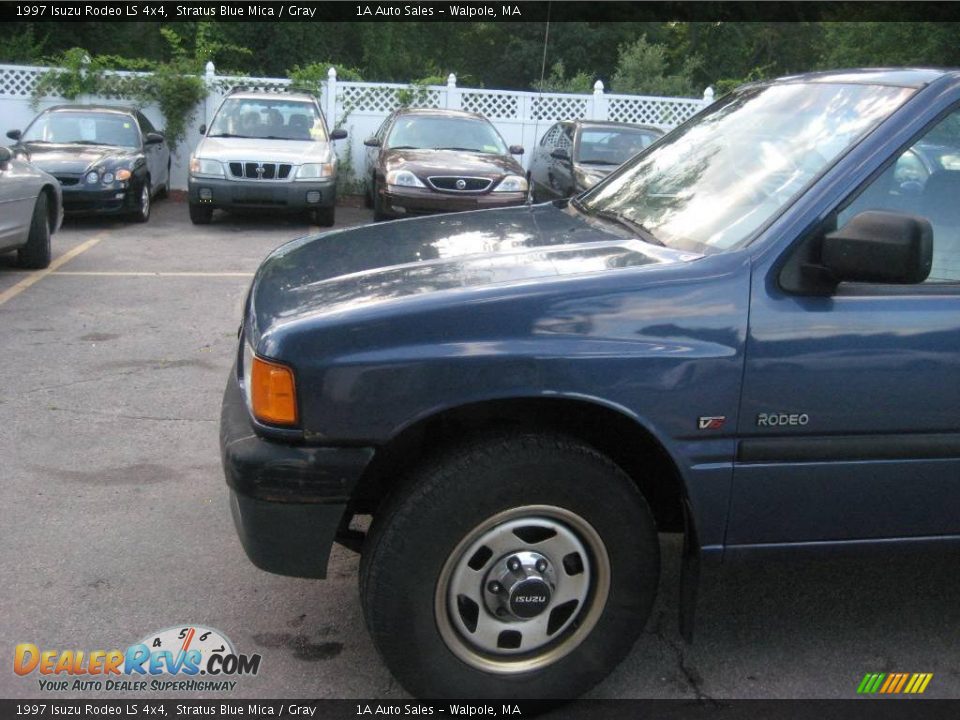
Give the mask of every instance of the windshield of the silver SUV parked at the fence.
M 323 118 L 312 102 L 284 98 L 228 98 L 210 124 L 207 137 L 266 140 L 327 139 Z

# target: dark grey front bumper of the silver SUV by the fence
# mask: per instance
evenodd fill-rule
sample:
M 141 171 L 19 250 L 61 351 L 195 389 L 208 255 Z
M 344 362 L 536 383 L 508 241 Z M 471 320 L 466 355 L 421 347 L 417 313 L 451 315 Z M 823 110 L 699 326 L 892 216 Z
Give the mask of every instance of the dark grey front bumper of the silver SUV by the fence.
M 273 182 L 268 180 L 226 180 L 190 177 L 190 203 L 220 210 L 272 208 L 301 211 L 333 207 L 337 199 L 336 179 L 317 182 Z M 201 191 L 203 191 L 201 193 Z M 209 198 L 206 197 L 209 193 Z

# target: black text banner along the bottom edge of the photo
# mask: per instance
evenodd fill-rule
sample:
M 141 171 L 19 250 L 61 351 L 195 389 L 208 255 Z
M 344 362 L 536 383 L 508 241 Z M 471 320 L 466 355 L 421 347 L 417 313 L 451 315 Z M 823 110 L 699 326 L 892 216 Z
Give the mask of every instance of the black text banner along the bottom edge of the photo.
M 951 700 L 0 700 L 4 718 L 394 718 L 547 717 L 563 720 L 956 720 Z

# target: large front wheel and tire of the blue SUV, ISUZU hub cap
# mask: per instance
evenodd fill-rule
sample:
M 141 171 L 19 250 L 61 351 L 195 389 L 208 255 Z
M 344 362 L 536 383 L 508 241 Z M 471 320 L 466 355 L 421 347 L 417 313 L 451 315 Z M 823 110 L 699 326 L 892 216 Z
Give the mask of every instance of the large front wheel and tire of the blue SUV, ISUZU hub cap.
M 452 448 L 378 511 L 360 568 L 367 627 L 421 697 L 576 697 L 630 651 L 659 545 L 635 484 L 546 434 Z

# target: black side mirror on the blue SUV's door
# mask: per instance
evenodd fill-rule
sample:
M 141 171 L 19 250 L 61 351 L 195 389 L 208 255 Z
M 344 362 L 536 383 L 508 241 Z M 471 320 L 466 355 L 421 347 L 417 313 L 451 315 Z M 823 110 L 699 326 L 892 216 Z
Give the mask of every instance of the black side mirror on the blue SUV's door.
M 868 210 L 823 238 L 820 262 L 838 283 L 921 283 L 933 262 L 933 228 L 916 215 Z

